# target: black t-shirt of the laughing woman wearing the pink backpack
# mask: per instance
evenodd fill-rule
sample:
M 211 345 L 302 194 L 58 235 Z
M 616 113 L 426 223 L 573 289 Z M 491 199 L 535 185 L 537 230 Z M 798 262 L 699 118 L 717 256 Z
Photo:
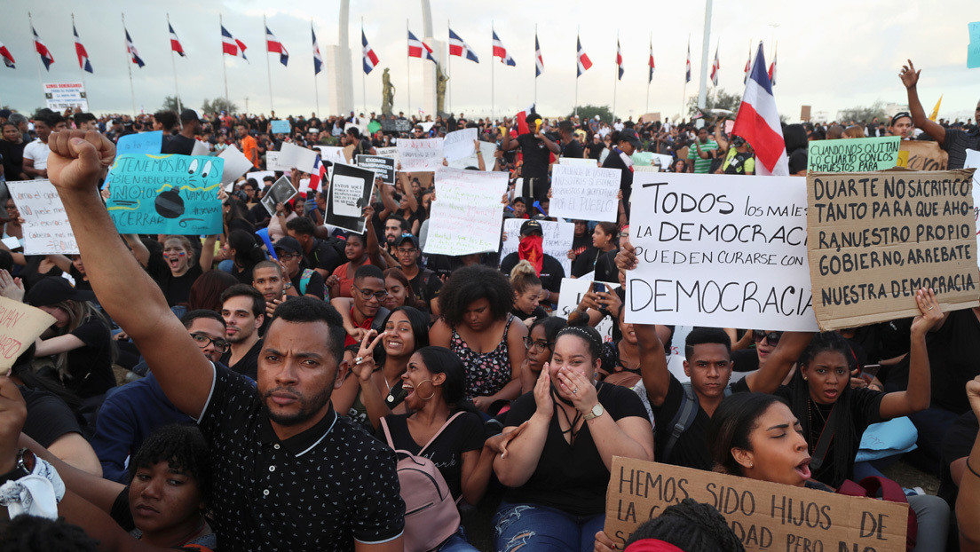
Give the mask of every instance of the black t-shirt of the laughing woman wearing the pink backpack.
M 384 417 L 391 431 L 391 440 L 395 443 L 395 448 L 418 456 L 422 445 L 418 444 L 409 432 L 408 419 L 408 414 L 389 414 Z M 378 429 L 377 434 L 384 439 L 383 429 Z M 431 460 L 439 469 L 454 499 L 459 499 L 463 494 L 463 453 L 481 450 L 484 440 L 486 440 L 486 432 L 483 430 L 480 417 L 465 412 L 439 433 L 421 455 Z

